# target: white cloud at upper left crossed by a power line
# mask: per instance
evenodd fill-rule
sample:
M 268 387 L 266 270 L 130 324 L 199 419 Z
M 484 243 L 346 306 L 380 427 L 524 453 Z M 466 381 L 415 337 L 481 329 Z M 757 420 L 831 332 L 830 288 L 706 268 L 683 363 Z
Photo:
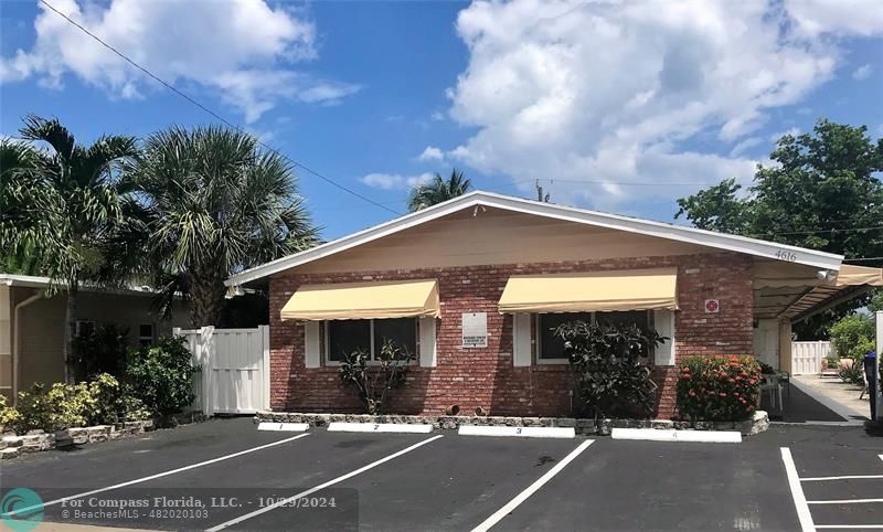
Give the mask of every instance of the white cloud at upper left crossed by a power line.
M 252 123 L 281 99 L 334 104 L 358 85 L 291 70 L 317 56 L 316 26 L 295 10 L 264 0 L 76 0 L 53 2 L 121 53 L 170 83 L 194 83 L 221 95 Z M 36 42 L 0 58 L 0 83 L 35 76 L 61 88 L 72 73 L 119 98 L 139 98 L 159 85 L 79 29 L 40 4 Z

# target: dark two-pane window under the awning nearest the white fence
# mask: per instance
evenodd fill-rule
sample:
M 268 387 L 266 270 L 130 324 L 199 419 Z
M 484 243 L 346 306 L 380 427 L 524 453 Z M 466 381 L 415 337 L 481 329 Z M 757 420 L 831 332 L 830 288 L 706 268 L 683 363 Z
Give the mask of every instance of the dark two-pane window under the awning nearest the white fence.
M 340 365 L 347 354 L 357 350 L 369 353 L 370 363 L 379 364 L 387 340 L 395 341 L 411 354 L 417 354 L 415 318 L 329 320 L 325 322 L 325 361 Z

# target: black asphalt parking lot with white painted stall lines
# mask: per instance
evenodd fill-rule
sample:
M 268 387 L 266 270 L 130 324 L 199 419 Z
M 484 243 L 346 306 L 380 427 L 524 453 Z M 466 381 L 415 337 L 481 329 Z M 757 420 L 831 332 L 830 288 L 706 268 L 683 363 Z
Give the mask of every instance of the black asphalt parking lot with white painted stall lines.
M 237 418 L 4 462 L 0 487 L 36 491 L 44 522 L 162 530 L 883 529 L 881 454 L 862 427 L 683 444 Z

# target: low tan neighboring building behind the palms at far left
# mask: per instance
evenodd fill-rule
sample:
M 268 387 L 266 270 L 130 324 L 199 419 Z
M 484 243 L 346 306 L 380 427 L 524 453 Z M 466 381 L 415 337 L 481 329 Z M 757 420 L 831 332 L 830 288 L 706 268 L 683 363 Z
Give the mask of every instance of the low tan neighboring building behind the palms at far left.
M 64 328 L 67 296 L 64 289 L 46 296 L 50 279 L 0 274 L 0 393 L 8 398 L 34 383 L 64 381 Z M 184 327 L 189 313 L 183 302 L 172 319 L 158 319 L 150 290 L 81 287 L 76 334 L 116 324 L 128 329 L 132 345 L 150 343 Z

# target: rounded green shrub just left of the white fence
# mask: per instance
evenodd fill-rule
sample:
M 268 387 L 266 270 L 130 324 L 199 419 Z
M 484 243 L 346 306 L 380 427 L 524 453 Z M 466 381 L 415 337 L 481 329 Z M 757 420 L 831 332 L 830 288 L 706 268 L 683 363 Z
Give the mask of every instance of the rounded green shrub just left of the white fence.
M 140 400 L 152 414 L 177 414 L 195 397 L 191 379 L 194 371 L 183 340 L 163 338 L 157 345 L 129 353 L 126 393 Z

